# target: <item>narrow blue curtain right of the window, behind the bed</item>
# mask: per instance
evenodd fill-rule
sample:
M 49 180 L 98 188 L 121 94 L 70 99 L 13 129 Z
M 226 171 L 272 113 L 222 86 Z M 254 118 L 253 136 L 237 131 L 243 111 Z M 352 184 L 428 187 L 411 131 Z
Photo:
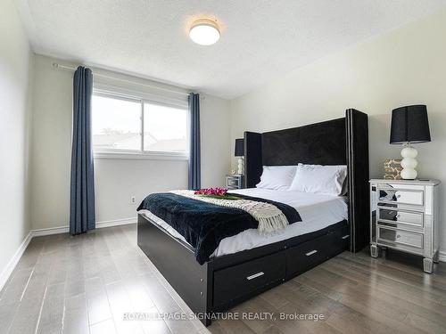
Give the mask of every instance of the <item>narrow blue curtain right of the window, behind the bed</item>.
M 202 179 L 200 167 L 200 95 L 191 93 L 188 101 L 191 118 L 189 189 L 197 190 L 200 189 Z

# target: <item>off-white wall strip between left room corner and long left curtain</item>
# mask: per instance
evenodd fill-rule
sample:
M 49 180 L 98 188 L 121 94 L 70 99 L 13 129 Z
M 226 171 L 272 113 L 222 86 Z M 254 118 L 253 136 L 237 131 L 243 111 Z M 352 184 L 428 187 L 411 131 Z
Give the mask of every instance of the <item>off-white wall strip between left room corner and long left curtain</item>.
M 30 214 L 37 229 L 68 222 L 72 73 L 35 56 L 34 81 Z

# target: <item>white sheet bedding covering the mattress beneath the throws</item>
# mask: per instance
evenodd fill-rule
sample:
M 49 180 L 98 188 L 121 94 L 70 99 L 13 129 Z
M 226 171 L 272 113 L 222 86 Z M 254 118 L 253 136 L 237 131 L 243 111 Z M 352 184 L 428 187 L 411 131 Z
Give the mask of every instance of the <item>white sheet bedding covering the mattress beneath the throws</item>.
M 299 212 L 302 221 L 296 224 L 290 224 L 284 230 L 272 235 L 260 235 L 257 229 L 249 229 L 235 236 L 227 237 L 220 241 L 219 247 L 215 249 L 211 257 L 221 257 L 241 250 L 256 248 L 293 238 L 301 234 L 322 230 L 348 217 L 346 199 L 342 196 L 330 196 L 300 191 L 275 191 L 259 188 L 241 189 L 230 192 L 288 204 Z M 139 213 L 150 218 L 156 224 L 159 224 L 174 237 L 186 241 L 175 229 L 161 218 L 154 216 L 152 212 L 140 210 Z

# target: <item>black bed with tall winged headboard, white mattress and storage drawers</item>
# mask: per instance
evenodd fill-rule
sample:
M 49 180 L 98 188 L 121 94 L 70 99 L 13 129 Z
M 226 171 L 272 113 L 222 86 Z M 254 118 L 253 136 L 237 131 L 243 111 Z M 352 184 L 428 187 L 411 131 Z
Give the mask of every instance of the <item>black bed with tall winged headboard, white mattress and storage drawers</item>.
M 245 184 L 232 191 L 296 208 L 301 223 L 274 236 L 246 230 L 219 242 L 200 265 L 194 248 L 150 211 L 138 212 L 137 242 L 178 295 L 207 326 L 213 314 L 260 294 L 346 249 L 368 244 L 368 117 L 347 110 L 309 126 L 244 134 Z M 262 166 L 346 165 L 348 195 L 256 189 Z

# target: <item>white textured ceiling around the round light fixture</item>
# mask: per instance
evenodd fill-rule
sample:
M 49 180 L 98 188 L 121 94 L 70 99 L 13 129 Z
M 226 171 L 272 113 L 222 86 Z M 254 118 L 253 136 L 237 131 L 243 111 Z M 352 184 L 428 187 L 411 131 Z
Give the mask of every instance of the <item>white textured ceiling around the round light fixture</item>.
M 235 98 L 446 0 L 16 0 L 36 53 Z M 191 20 L 216 17 L 195 45 Z

